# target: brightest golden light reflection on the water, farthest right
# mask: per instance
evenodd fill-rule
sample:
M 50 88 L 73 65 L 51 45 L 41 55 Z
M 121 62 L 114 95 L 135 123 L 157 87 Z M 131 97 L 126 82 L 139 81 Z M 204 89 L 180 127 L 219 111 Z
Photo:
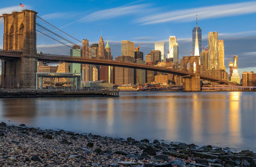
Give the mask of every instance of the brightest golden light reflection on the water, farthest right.
M 229 141 L 232 145 L 239 145 L 241 141 L 241 92 L 230 92 L 229 109 Z

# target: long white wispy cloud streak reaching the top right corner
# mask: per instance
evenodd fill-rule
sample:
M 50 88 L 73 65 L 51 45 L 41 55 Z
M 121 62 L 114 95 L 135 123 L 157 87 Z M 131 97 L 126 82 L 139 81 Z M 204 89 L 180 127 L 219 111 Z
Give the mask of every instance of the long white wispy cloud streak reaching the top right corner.
M 196 12 L 198 13 L 200 20 L 255 13 L 256 1 L 170 11 L 141 17 L 138 18 L 137 22 L 144 25 L 159 24 L 163 22 L 190 22 L 195 20 Z

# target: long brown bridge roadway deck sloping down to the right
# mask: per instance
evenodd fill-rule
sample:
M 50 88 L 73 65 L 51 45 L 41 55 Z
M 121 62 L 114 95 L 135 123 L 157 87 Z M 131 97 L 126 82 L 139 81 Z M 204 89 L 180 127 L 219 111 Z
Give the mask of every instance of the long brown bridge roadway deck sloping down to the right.
M 22 51 L 0 50 L 0 59 L 19 59 L 20 57 L 22 57 Z M 68 55 L 54 55 L 54 54 L 36 54 L 35 57 L 38 59 L 38 61 L 96 64 L 96 65 L 102 65 L 102 66 L 116 66 L 116 67 L 122 67 L 122 68 L 146 69 L 146 70 L 158 71 L 163 73 L 172 73 L 174 75 L 180 75 L 180 76 L 196 76 L 195 73 L 189 73 L 188 71 L 164 68 L 160 66 L 149 66 L 149 65 L 138 64 L 134 62 L 122 62 L 122 61 L 113 61 L 113 60 L 106 60 L 106 59 L 73 57 Z M 200 78 L 204 80 L 209 80 L 212 82 L 230 83 L 228 80 L 220 80 L 219 78 L 214 78 L 211 76 L 200 75 Z

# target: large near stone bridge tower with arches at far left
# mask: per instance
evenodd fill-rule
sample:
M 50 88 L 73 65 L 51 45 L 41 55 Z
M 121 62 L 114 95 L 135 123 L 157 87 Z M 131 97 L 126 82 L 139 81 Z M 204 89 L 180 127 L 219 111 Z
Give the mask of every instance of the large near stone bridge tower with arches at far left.
M 3 14 L 3 50 L 22 51 L 20 59 L 2 60 L 1 86 L 36 86 L 36 11 L 22 10 Z

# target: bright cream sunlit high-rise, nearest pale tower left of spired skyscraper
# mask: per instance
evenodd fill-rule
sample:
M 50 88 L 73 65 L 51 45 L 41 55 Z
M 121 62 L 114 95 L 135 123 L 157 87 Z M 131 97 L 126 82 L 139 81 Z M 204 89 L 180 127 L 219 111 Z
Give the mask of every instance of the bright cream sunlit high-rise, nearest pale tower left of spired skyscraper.
M 172 59 L 173 62 L 179 62 L 179 45 L 176 36 L 169 37 L 169 51 L 167 61 Z

